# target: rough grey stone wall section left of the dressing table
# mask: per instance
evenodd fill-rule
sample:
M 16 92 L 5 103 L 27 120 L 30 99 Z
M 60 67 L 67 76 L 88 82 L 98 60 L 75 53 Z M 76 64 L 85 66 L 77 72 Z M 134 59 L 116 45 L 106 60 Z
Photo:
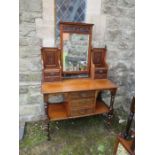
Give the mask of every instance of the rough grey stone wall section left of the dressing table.
M 36 35 L 36 20 L 42 18 L 42 0 L 20 0 L 19 104 L 20 122 L 44 116 L 40 93 L 42 40 Z

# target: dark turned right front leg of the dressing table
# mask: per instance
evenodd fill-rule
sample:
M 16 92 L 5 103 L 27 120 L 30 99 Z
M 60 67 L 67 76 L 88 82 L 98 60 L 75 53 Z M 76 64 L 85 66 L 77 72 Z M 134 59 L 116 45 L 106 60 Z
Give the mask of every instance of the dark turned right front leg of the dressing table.
M 109 113 L 108 113 L 109 121 L 113 117 L 113 111 L 114 111 L 113 105 L 114 105 L 114 99 L 115 99 L 115 95 L 116 95 L 116 89 L 112 89 L 112 90 L 110 90 L 110 92 L 111 92 L 111 99 L 110 99 L 110 107 L 109 107 Z

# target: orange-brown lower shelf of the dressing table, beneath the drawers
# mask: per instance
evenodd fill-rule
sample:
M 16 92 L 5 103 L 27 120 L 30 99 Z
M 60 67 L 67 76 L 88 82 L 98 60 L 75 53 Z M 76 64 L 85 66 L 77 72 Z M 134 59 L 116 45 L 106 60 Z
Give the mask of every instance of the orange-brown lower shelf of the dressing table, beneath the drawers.
M 103 114 L 108 112 L 109 112 L 108 106 L 100 101 L 96 103 L 96 109 L 94 113 L 80 115 L 80 116 L 72 116 L 72 117 L 67 116 L 67 111 L 64 103 L 49 104 L 49 107 L 48 107 L 49 119 L 51 121 L 65 120 L 65 119 L 78 118 L 78 117 L 84 117 L 84 116 L 92 116 L 92 115 Z

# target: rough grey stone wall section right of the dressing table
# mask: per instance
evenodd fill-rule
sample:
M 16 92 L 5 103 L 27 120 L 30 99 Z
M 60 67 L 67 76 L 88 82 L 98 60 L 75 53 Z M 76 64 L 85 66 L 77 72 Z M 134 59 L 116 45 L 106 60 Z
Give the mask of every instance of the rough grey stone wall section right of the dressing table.
M 129 111 L 135 89 L 134 10 L 134 0 L 102 0 L 109 79 L 119 86 L 115 106 L 125 111 Z

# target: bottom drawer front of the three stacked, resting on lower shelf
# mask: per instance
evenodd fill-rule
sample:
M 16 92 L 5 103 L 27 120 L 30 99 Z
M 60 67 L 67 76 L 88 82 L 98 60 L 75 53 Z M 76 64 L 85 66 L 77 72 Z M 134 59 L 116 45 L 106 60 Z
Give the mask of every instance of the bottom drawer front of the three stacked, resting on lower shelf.
M 81 116 L 94 113 L 94 108 L 71 110 L 71 116 Z

